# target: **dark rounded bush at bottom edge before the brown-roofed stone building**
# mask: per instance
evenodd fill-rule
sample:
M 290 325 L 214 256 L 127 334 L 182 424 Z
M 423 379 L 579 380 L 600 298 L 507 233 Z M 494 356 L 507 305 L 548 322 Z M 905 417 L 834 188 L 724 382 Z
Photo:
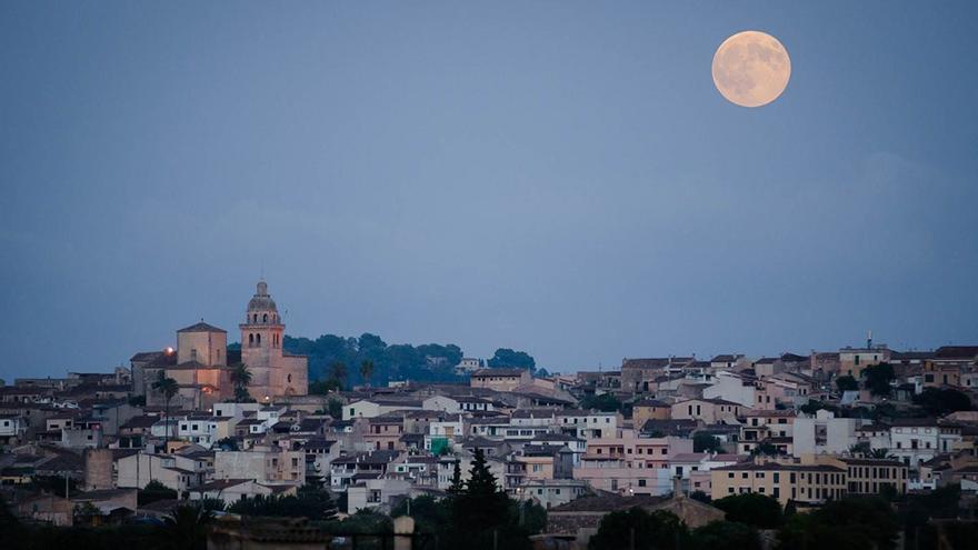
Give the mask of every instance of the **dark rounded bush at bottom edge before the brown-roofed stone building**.
M 689 531 L 673 513 L 656 510 L 647 512 L 635 507 L 615 511 L 601 519 L 598 532 L 591 537 L 588 550 L 676 550 L 689 548 Z

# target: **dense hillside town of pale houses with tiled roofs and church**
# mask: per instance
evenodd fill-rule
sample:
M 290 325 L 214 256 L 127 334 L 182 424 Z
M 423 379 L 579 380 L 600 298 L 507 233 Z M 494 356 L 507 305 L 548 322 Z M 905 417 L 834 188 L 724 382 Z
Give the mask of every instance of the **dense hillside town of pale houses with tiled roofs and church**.
M 900 351 L 869 339 L 545 376 L 461 358 L 461 381 L 431 383 L 370 383 L 372 366 L 351 364 L 310 392 L 265 281 L 238 329 L 240 347 L 201 321 L 128 368 L 0 387 L 13 513 L 112 523 L 311 487 L 339 517 L 392 516 L 458 490 L 479 461 L 499 491 L 546 511 L 537 540 L 585 548 L 607 514 L 635 506 L 696 528 L 723 519 L 711 502 L 731 496 L 805 511 L 847 496 L 978 491 L 978 346 Z M 349 370 L 367 382 L 350 384 Z

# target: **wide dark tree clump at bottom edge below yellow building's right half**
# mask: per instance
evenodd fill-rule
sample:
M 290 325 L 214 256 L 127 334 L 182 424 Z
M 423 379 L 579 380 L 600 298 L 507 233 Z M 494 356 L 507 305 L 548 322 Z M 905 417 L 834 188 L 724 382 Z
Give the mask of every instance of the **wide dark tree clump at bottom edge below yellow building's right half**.
M 778 548 L 891 550 L 899 524 L 889 504 L 878 497 L 829 501 L 809 513 L 796 513 L 781 529 Z

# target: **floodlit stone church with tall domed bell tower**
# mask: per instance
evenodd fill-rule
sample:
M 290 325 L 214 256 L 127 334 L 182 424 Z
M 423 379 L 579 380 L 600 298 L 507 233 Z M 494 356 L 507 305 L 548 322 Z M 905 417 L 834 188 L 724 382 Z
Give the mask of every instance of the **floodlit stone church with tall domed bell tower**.
M 231 372 L 244 364 L 251 373 L 248 391 L 258 402 L 308 392 L 308 360 L 282 350 L 286 326 L 263 280 L 258 282 L 255 296 L 248 301 L 244 322 L 238 328 L 240 350 L 228 349 L 226 330 L 201 320 L 177 331 L 176 349 L 132 356 L 133 391 L 146 396 L 148 407 L 166 404 L 163 396 L 152 387 L 162 371 L 179 387 L 171 408 L 210 409 L 216 402 L 233 398 Z

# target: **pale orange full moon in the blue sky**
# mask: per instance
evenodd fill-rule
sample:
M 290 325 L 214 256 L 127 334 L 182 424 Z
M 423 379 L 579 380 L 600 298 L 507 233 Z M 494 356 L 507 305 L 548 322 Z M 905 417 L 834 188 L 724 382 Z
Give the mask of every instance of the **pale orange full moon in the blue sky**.
M 765 32 L 738 32 L 723 40 L 713 54 L 717 90 L 740 107 L 761 107 L 778 99 L 789 78 L 788 50 Z

